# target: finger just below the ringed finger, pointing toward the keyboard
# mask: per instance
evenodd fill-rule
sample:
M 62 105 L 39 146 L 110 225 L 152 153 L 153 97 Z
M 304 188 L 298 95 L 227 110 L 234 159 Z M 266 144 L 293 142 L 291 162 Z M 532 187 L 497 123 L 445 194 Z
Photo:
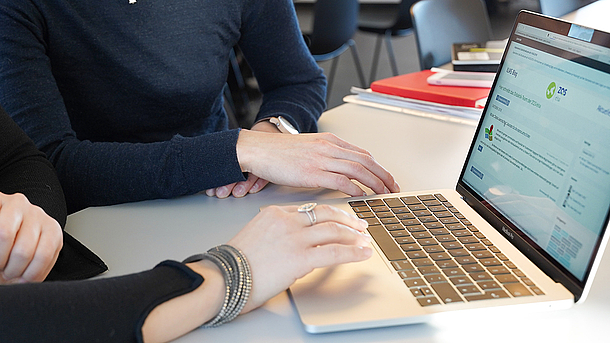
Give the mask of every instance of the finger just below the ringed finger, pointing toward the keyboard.
M 369 246 L 371 236 L 354 230 L 353 228 L 337 222 L 326 222 L 316 224 L 307 230 L 303 230 L 302 241 L 308 246 L 316 247 L 327 244 Z

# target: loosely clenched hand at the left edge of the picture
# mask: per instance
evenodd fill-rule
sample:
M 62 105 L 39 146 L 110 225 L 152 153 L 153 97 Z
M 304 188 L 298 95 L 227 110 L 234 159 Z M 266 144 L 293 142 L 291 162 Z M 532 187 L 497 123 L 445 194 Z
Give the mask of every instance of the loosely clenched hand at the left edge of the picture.
M 43 281 L 62 246 L 55 219 L 23 194 L 0 193 L 0 284 Z

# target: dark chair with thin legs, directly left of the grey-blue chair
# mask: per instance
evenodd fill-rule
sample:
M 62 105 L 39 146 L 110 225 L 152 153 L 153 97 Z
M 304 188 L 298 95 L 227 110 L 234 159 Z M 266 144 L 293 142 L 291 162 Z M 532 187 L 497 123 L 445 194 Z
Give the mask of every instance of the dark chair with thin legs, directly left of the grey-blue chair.
M 396 63 L 394 49 L 392 48 L 392 37 L 404 37 L 413 33 L 410 9 L 411 5 L 415 2 L 417 2 L 417 0 L 402 0 L 398 5 L 360 5 L 358 29 L 363 32 L 377 35 L 369 82 L 375 81 L 383 38 L 385 38 L 386 41 L 392 73 L 394 76 L 398 75 L 398 65 Z

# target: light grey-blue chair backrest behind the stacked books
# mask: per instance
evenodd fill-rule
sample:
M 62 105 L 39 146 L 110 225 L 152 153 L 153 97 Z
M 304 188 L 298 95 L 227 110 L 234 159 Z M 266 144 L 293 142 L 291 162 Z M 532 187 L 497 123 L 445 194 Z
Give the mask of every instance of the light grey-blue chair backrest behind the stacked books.
M 493 37 L 482 0 L 421 0 L 411 6 L 411 19 L 422 70 L 451 62 L 453 43 Z

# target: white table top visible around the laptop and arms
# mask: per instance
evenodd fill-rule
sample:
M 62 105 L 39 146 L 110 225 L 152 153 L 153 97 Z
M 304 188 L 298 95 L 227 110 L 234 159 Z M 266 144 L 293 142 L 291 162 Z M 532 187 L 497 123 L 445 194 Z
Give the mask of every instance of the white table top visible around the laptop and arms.
M 605 9 L 610 0 L 600 1 Z M 594 12 L 600 11 L 597 7 Z M 575 16 L 579 20 L 582 17 Z M 580 18 L 580 19 L 579 19 Z M 600 27 L 603 21 L 589 26 Z M 607 25 L 607 23 L 605 24 Z M 326 112 L 320 129 L 368 149 L 389 169 L 403 190 L 452 188 L 474 133 L 465 126 L 345 104 Z M 344 196 L 328 190 L 268 186 L 242 199 L 204 194 L 89 208 L 69 216 L 66 230 L 106 261 L 105 275 L 117 276 L 153 267 L 163 259 L 182 260 L 229 240 L 261 206 Z M 215 329 L 199 329 L 176 342 L 597 342 L 610 322 L 610 249 L 607 249 L 589 298 L 569 310 L 477 317 L 449 314 L 427 324 L 332 334 L 307 334 L 286 292 L 262 308 Z

